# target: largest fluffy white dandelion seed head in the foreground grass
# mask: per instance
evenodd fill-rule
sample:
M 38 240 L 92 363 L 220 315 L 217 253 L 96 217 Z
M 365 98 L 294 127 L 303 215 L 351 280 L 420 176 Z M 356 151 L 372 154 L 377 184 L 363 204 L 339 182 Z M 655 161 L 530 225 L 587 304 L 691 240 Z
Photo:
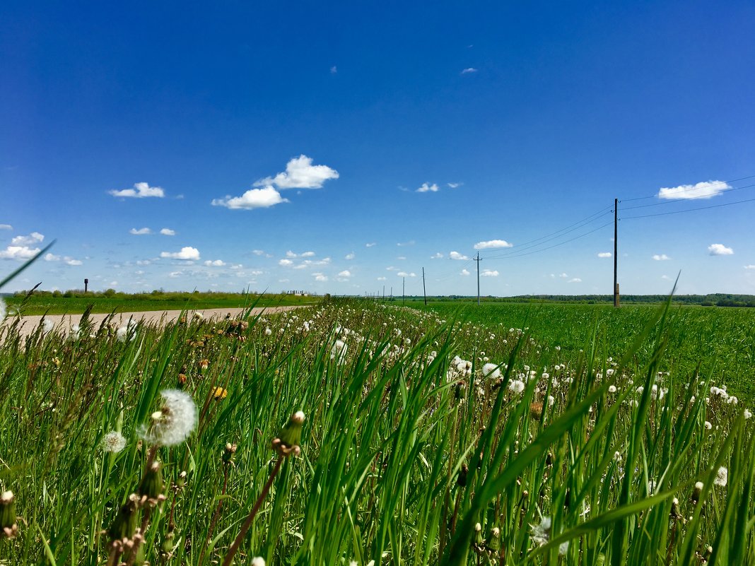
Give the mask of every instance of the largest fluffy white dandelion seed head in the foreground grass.
M 162 409 L 152 414 L 149 425 L 140 427 L 140 436 L 149 444 L 173 446 L 189 437 L 196 425 L 196 405 L 186 392 L 163 389 Z

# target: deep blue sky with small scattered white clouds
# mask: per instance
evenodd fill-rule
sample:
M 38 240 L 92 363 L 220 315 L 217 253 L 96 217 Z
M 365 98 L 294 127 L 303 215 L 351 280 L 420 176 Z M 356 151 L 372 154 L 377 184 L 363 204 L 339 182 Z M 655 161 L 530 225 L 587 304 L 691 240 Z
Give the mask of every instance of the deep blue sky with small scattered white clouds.
M 755 293 L 752 2 L 154 4 L 0 8 L 4 291 L 609 294 L 619 198 Z

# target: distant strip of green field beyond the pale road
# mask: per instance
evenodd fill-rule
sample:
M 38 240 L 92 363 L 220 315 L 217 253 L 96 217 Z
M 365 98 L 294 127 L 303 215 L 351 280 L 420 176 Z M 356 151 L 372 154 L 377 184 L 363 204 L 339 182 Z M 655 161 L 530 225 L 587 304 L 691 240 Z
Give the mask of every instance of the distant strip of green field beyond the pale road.
M 84 312 L 141 312 L 149 310 L 236 309 L 256 303 L 257 306 L 312 305 L 319 297 L 291 294 L 221 294 L 221 293 L 144 293 L 87 294 L 80 297 L 32 294 L 31 297 L 6 297 L 8 309 L 21 309 L 24 315 L 64 315 Z

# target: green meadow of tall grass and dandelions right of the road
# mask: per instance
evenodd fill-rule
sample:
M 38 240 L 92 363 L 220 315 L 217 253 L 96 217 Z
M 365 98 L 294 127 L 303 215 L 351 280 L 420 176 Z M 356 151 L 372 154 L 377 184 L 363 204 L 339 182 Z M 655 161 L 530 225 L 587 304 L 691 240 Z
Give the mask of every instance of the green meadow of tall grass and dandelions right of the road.
M 729 309 L 0 329 L 0 564 L 755 564 Z

